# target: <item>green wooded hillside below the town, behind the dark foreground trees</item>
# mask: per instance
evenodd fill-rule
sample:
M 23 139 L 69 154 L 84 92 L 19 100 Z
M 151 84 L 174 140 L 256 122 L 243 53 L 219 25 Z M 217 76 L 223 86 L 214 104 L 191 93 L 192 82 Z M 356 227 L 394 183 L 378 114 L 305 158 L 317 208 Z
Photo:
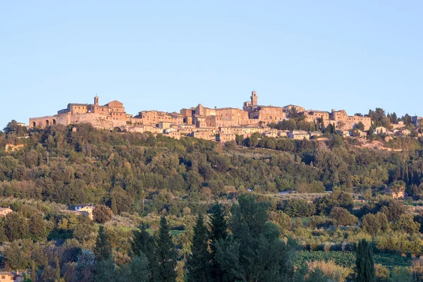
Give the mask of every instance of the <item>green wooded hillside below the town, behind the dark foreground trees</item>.
M 1 133 L 0 205 L 13 210 L 0 219 L 3 262 L 8 269 L 35 273 L 40 281 L 57 275 L 65 281 L 95 281 L 93 276 L 81 280 L 81 271 L 94 275 L 109 266 L 81 269 L 82 259 L 96 256 L 96 238 L 105 232 L 118 274 L 135 275 L 127 268 L 140 263 L 132 242 L 148 226 L 142 236 L 155 238 L 154 246 L 160 247 L 165 215 L 182 281 L 189 273 L 197 215 L 207 214 L 204 224 L 212 232 L 213 206 L 220 202 L 234 238 L 236 224 L 248 216 L 251 232 L 267 232 L 257 226 L 271 221 L 277 229 L 272 234 L 288 240 L 289 253 L 298 254 L 291 258 L 295 275 L 307 264 L 309 271 L 329 271 L 326 278 L 338 271 L 343 277 L 338 281 L 350 281 L 362 238 L 374 244 L 379 276 L 386 271 L 395 276 L 417 263 L 410 257 L 420 255 L 423 242 L 421 139 L 374 141 L 408 149 L 389 152 L 336 135 L 321 140 L 256 137 L 239 140 L 244 145 L 222 145 L 90 125 Z M 408 200 L 392 200 L 386 187 L 405 189 Z M 74 204 L 97 204 L 94 210 L 111 216 L 91 221 L 66 211 Z M 256 212 L 243 215 L 249 209 Z M 251 236 L 259 238 L 258 233 Z M 56 255 L 49 257 L 49 252 Z M 407 258 L 400 257 L 405 253 Z

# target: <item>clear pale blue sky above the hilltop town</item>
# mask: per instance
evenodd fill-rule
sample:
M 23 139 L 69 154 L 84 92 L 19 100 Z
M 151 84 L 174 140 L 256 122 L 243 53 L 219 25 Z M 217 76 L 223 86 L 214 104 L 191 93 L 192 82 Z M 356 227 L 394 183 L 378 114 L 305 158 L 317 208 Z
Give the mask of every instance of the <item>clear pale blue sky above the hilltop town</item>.
M 69 102 L 423 115 L 422 1 L 0 1 L 0 128 Z

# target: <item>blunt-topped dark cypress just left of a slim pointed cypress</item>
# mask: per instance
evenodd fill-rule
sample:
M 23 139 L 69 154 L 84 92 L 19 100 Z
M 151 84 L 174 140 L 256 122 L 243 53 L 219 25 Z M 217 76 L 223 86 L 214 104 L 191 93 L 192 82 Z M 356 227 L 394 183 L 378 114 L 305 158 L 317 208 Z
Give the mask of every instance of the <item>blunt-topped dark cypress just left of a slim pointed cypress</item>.
M 140 226 L 140 231 L 133 231 L 133 242 L 131 243 L 135 257 L 147 257 L 149 281 L 158 280 L 158 264 L 156 258 L 157 246 L 154 238 L 147 232 L 147 226 Z

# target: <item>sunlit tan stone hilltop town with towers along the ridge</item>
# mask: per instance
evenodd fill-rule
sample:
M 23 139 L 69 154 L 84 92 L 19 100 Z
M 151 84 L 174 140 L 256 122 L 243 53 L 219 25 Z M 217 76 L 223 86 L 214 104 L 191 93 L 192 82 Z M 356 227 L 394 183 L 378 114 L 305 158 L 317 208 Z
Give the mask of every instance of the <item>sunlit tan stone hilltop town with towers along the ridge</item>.
M 293 118 L 300 119 L 300 128 L 278 126 L 289 123 Z M 136 116 L 125 111 L 123 103 L 112 101 L 103 106 L 99 97 L 94 97 L 94 104 L 68 104 L 54 116 L 30 118 L 30 128 L 45 128 L 49 125 L 70 125 L 90 123 L 99 129 L 114 129 L 127 132 L 164 134 L 180 139 L 181 136 L 197 137 L 217 142 L 235 141 L 237 135 L 243 138 L 254 133 L 268 137 L 289 137 L 295 140 L 318 137 L 330 127 L 333 133 L 344 137 L 366 137 L 372 128 L 374 133 L 389 136 L 410 135 L 403 121 L 378 126 L 372 123 L 370 116 L 355 114 L 348 116 L 345 110 L 329 111 L 306 110 L 302 106 L 262 106 L 258 104 L 257 92 L 252 91 L 250 101 L 238 108 L 207 108 L 198 104 L 196 107 L 180 109 L 177 112 L 140 111 Z M 412 123 L 419 126 L 422 118 L 412 117 Z M 374 128 L 372 127 L 374 126 Z

